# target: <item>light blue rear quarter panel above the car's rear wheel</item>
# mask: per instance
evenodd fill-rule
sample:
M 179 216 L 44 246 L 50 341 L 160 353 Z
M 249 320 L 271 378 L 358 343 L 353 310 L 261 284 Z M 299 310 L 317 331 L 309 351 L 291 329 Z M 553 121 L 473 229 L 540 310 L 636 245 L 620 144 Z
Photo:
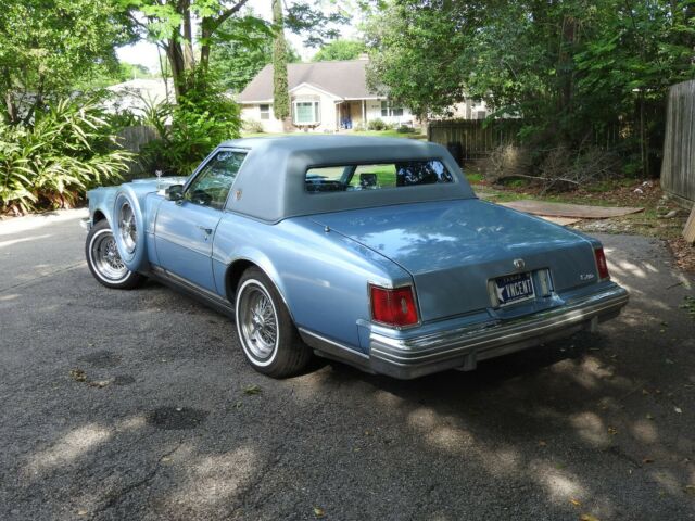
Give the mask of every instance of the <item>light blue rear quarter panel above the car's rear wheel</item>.
M 263 269 L 298 327 L 355 350 L 361 350 L 357 321 L 370 318 L 368 282 L 412 282 L 391 260 L 305 217 L 271 225 L 226 213 L 213 245 L 215 283 L 222 295 L 227 269 L 237 260 Z

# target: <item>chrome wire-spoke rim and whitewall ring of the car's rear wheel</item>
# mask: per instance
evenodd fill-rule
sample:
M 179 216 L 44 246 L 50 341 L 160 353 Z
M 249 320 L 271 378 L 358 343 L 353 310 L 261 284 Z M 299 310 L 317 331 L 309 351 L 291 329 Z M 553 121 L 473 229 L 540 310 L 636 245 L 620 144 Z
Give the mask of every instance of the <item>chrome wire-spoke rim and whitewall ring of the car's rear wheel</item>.
M 257 284 L 249 284 L 240 295 L 240 329 L 254 358 L 266 360 L 277 347 L 278 318 L 270 296 Z

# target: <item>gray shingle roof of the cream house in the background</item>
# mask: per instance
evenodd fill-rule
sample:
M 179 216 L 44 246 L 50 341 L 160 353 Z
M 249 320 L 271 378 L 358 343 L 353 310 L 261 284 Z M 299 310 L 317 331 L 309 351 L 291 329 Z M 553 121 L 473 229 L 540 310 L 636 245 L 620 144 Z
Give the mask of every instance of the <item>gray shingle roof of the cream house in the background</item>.
M 367 88 L 365 67 L 367 60 L 312 62 L 288 64 L 290 90 L 302 84 L 318 87 L 338 98 L 364 99 L 376 94 Z M 237 101 L 251 103 L 273 100 L 273 65 L 268 64 L 256 75 Z

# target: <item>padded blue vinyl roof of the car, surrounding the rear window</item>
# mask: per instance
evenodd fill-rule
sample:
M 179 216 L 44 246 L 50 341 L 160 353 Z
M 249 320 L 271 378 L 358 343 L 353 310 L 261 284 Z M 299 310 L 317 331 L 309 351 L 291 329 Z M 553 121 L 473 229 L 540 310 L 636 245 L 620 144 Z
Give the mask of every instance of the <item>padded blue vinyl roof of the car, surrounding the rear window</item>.
M 285 136 L 225 141 L 220 148 L 247 149 L 227 209 L 277 223 L 288 217 L 425 201 L 475 198 L 470 185 L 448 151 L 415 139 L 353 136 Z M 439 158 L 453 183 L 406 189 L 311 194 L 305 175 L 311 166 L 370 164 Z

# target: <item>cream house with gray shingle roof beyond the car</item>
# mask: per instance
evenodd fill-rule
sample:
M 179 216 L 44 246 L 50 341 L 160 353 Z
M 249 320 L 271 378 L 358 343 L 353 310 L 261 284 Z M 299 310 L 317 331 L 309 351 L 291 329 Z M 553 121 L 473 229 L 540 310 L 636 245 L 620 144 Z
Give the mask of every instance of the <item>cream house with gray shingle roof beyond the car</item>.
M 292 124 L 296 129 L 336 132 L 374 119 L 412 124 L 405 106 L 394 105 L 367 87 L 367 59 L 290 63 L 288 86 Z M 244 122 L 258 122 L 266 132 L 281 132 L 282 122 L 273 113 L 273 65 L 266 65 L 237 97 Z

